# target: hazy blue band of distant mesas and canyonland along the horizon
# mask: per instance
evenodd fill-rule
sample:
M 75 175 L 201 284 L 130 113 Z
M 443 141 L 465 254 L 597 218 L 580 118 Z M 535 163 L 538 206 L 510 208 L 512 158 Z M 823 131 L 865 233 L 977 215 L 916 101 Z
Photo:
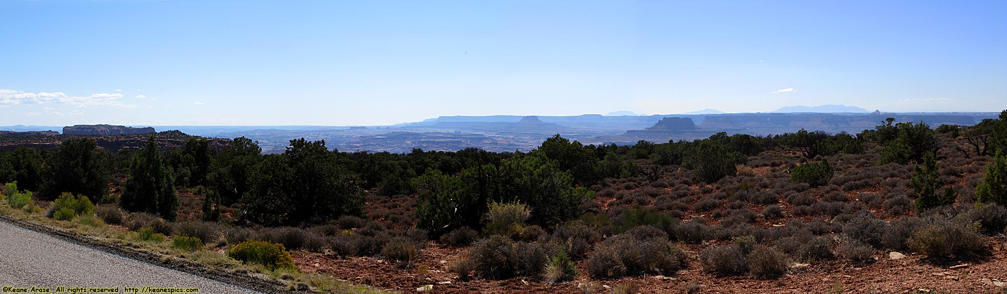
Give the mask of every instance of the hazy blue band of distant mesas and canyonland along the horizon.
M 835 113 L 821 113 L 833 111 Z M 873 129 L 885 118 L 896 122 L 925 122 L 930 127 L 942 124 L 973 125 L 983 119 L 996 118 L 997 112 L 947 112 L 947 113 L 880 113 L 868 112 L 857 107 L 824 105 L 817 107 L 796 106 L 781 108 L 771 113 L 723 114 L 706 109 L 678 115 L 637 115 L 631 112 L 613 112 L 607 116 L 445 116 L 421 122 L 392 126 L 149 126 L 157 130 L 178 130 L 189 135 L 212 138 L 247 137 L 258 141 L 266 153 L 283 152 L 291 139 L 325 140 L 327 147 L 342 151 L 411 152 L 413 148 L 433 151 L 456 151 L 463 148 L 480 148 L 489 151 L 528 151 L 538 148 L 542 141 L 556 134 L 578 140 L 583 144 L 633 144 L 639 140 L 668 142 L 707 138 L 718 132 L 727 134 L 770 135 L 796 132 L 801 129 L 828 133 L 859 133 Z M 147 126 L 139 128 L 90 126 L 97 131 L 86 134 L 115 136 L 113 134 L 147 133 Z M 74 129 L 74 128 L 70 128 Z M 105 131 L 105 129 L 109 129 Z M 121 129 L 121 130 L 119 130 Z M 45 142 L 58 142 L 69 134 L 57 135 L 61 127 L 12 126 L 0 127 L 0 141 L 11 144 L 26 142 L 25 137 L 43 137 Z M 159 137 L 165 133 L 161 132 Z M 110 134 L 110 135 L 104 135 Z M 140 140 L 144 135 L 131 136 Z M 6 139 L 4 139 L 6 138 Z M 112 138 L 112 137 L 109 137 Z M 140 139 L 137 139 L 140 138 Z M 131 140 L 133 140 L 131 139 Z M 160 138 L 159 138 L 160 139 Z M 118 143 L 116 143 L 118 144 Z M 14 145 L 11 145 L 14 146 Z M 118 146 L 118 145 L 116 145 Z

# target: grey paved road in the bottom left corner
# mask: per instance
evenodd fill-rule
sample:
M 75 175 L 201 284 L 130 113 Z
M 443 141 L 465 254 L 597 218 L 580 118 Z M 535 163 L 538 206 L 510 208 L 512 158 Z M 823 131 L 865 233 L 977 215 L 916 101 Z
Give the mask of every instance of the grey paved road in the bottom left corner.
M 194 287 L 199 293 L 259 293 L 4 222 L 0 222 L 0 286 Z

